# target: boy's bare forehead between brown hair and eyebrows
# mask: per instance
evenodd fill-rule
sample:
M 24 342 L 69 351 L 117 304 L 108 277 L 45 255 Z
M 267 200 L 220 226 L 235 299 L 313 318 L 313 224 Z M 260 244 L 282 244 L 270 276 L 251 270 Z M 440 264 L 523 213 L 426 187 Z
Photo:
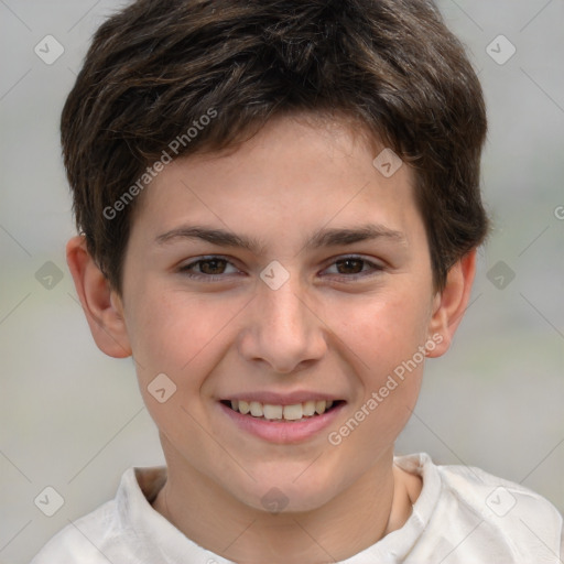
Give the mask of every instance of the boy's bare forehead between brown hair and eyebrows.
M 416 212 L 414 175 L 384 150 L 345 121 L 275 118 L 236 149 L 167 164 L 138 202 L 134 225 L 155 237 L 187 220 L 264 236 L 328 224 L 402 231 Z M 399 169 L 383 174 L 382 164 Z

